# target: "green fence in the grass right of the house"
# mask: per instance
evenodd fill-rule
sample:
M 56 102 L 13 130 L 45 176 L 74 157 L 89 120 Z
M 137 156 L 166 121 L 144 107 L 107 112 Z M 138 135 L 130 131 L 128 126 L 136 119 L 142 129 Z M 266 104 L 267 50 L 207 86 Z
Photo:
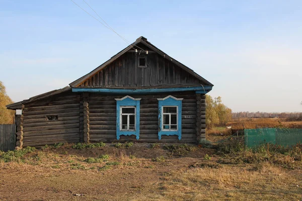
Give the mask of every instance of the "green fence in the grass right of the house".
M 247 147 L 255 147 L 265 143 L 291 146 L 302 143 L 302 129 L 245 129 L 244 137 Z

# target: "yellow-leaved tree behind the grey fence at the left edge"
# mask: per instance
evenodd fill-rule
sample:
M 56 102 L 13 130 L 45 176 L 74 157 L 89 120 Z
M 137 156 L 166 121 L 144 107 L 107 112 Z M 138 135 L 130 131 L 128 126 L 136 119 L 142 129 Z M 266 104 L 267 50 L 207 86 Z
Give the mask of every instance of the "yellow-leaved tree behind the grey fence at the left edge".
M 0 124 L 13 124 L 15 111 L 8 110 L 7 105 L 12 104 L 12 99 L 6 93 L 6 88 L 0 81 Z

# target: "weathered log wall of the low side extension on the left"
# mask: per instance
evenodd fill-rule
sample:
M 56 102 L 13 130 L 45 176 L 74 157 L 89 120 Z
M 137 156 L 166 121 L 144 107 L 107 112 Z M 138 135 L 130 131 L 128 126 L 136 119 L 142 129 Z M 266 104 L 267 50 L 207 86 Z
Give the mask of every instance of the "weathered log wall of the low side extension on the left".
M 46 116 L 58 116 L 48 121 Z M 80 141 L 80 95 L 71 92 L 25 104 L 23 147 Z

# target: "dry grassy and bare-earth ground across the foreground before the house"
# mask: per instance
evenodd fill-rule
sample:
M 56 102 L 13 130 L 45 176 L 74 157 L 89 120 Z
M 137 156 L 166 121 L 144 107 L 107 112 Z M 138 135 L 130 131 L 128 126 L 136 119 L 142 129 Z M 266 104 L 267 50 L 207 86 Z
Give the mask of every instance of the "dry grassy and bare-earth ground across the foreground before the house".
M 26 148 L 0 153 L 0 200 L 300 200 L 301 147 L 276 150 L 238 142 Z

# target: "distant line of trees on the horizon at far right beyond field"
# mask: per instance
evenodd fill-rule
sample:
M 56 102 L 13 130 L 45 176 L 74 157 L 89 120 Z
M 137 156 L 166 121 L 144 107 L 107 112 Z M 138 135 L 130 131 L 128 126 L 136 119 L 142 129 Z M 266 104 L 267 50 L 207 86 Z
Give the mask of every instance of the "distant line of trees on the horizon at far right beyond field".
M 302 113 L 265 113 L 265 112 L 239 112 L 232 113 L 232 118 L 290 118 L 302 119 Z

